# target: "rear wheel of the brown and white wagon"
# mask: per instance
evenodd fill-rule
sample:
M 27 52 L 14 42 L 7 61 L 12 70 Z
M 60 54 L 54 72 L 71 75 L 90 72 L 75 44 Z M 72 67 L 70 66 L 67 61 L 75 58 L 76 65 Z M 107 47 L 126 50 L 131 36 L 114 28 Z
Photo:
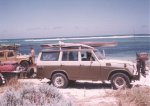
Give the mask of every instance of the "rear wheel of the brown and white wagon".
M 68 78 L 63 73 L 54 74 L 51 81 L 57 88 L 66 88 L 68 86 Z

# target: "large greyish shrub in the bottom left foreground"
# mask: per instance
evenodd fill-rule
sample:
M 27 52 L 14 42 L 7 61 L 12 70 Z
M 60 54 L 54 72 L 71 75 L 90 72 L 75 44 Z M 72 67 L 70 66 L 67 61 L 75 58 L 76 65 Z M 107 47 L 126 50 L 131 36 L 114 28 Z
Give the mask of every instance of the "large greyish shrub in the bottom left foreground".
M 17 89 L 14 86 L 8 87 L 0 94 L 0 106 L 71 106 L 71 104 L 57 88 L 48 84 L 24 83 Z

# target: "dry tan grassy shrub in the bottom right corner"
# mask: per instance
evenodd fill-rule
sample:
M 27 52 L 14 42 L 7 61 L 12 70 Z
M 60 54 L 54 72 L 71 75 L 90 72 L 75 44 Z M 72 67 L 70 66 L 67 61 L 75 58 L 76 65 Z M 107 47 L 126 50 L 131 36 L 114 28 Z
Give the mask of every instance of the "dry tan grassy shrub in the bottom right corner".
M 150 106 L 150 87 L 147 86 L 116 90 L 108 95 L 120 99 L 122 106 Z

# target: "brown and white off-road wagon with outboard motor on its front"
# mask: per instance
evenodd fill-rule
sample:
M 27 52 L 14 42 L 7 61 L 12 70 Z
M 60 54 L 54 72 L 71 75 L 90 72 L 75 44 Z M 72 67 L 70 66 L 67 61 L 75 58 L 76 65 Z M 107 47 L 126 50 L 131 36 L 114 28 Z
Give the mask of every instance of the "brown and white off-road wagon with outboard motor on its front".
M 43 45 L 37 59 L 37 77 L 48 78 L 58 88 L 65 88 L 71 81 L 108 80 L 114 89 L 129 88 L 133 80 L 145 72 L 145 60 L 137 55 L 137 63 L 102 57 L 92 46 L 77 43 Z M 144 56 L 148 57 L 147 54 Z

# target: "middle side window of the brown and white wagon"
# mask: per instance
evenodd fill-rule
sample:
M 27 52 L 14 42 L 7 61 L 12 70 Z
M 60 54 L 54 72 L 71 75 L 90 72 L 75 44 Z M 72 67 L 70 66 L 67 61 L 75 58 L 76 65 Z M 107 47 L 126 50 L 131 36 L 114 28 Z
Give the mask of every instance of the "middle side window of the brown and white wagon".
M 78 51 L 64 51 L 62 61 L 78 61 Z

